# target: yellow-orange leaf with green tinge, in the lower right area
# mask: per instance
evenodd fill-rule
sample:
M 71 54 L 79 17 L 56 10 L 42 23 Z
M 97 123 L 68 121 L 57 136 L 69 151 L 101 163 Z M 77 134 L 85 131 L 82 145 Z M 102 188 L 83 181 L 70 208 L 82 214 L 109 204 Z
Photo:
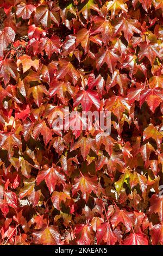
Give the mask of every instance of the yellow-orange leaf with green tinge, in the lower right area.
M 145 200 L 147 192 L 147 178 L 145 175 L 139 174 L 134 170 L 134 173 L 130 174 L 130 186 L 133 188 L 137 184 L 139 184 L 143 199 Z

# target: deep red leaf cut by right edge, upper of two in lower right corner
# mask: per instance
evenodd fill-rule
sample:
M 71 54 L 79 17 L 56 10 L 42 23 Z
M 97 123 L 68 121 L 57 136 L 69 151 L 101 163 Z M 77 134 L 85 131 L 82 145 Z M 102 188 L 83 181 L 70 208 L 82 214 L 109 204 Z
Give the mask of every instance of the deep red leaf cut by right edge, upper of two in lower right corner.
M 158 194 L 153 194 L 151 197 L 151 206 L 149 208 L 150 214 L 153 212 L 158 213 L 160 222 L 163 221 L 163 198 L 159 197 Z

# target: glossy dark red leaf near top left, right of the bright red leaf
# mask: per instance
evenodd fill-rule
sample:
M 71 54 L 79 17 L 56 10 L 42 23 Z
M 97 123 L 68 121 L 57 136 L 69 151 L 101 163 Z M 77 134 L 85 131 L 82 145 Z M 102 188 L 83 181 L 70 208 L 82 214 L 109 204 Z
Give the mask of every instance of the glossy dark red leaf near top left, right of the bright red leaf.
M 49 10 L 47 5 L 40 5 L 35 11 L 35 25 L 39 25 L 41 23 L 45 29 L 48 29 L 51 26 L 52 21 L 59 25 L 59 20 L 59 13 L 55 11 L 55 9 Z

